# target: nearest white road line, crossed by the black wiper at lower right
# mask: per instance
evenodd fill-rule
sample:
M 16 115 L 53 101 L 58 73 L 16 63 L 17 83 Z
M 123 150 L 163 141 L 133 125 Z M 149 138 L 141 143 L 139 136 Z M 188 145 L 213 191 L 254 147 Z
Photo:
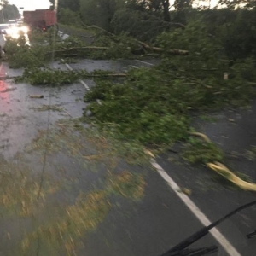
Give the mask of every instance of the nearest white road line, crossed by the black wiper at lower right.
M 208 226 L 212 224 L 212 222 L 207 218 L 207 216 L 201 212 L 201 210 L 196 207 L 195 203 L 191 201 L 188 195 L 183 194 L 181 192 L 180 187 L 175 183 L 175 181 L 170 177 L 166 171 L 154 160 L 151 159 L 151 165 L 154 166 L 156 171 L 160 174 L 160 176 L 168 183 L 168 185 L 172 188 L 175 194 L 183 201 L 183 203 L 189 207 L 189 210 L 194 213 L 195 217 L 203 224 L 204 226 Z M 218 241 L 218 243 L 224 248 L 226 253 L 230 256 L 241 256 L 240 253 L 236 251 L 236 248 L 230 244 L 217 228 L 213 228 L 209 231 L 212 236 Z

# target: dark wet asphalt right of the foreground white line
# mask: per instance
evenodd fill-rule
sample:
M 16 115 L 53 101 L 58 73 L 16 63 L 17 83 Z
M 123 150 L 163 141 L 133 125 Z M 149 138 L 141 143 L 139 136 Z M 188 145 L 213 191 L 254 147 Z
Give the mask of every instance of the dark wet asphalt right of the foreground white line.
M 249 109 L 226 109 L 222 113 L 212 113 L 212 121 L 195 119 L 196 131 L 208 137 L 223 149 L 225 165 L 249 182 L 256 183 L 256 159 L 250 156 L 256 145 L 256 102 Z M 179 161 L 177 165 L 176 160 Z M 247 202 L 255 201 L 255 192 L 237 189 L 225 182 L 214 171 L 204 167 L 181 164 L 177 154 L 165 154 L 158 160 L 166 172 L 178 184 L 192 190 L 190 198 L 214 220 L 224 216 Z M 194 191 L 194 192 L 193 192 Z M 247 240 L 246 235 L 256 226 L 256 206 L 237 213 L 219 225 L 219 230 L 237 248 L 241 255 L 256 255 L 255 239 Z

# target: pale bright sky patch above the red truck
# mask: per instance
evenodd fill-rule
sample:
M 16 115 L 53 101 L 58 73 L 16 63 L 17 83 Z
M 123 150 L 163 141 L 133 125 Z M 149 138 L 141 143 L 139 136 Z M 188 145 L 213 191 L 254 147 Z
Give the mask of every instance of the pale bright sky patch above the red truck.
M 9 0 L 9 4 L 15 4 L 20 12 L 23 10 L 34 10 L 34 9 L 49 9 L 49 0 Z

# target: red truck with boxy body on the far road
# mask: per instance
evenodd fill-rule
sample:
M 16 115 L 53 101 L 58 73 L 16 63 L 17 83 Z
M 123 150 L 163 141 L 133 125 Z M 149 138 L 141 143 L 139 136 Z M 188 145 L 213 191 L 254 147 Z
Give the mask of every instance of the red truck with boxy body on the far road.
M 43 31 L 51 26 L 55 26 L 57 19 L 55 10 L 36 9 L 34 11 L 23 12 L 24 22 L 31 28 L 39 28 Z

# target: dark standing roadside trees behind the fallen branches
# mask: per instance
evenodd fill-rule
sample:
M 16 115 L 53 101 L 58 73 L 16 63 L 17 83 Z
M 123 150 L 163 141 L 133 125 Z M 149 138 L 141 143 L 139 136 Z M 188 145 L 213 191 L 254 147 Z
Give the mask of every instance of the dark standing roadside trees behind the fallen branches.
M 50 0 L 55 3 L 55 0 Z M 58 17 L 67 25 L 95 25 L 108 32 L 153 42 L 162 32 L 201 20 L 231 58 L 256 55 L 256 2 L 252 0 L 59 0 Z

